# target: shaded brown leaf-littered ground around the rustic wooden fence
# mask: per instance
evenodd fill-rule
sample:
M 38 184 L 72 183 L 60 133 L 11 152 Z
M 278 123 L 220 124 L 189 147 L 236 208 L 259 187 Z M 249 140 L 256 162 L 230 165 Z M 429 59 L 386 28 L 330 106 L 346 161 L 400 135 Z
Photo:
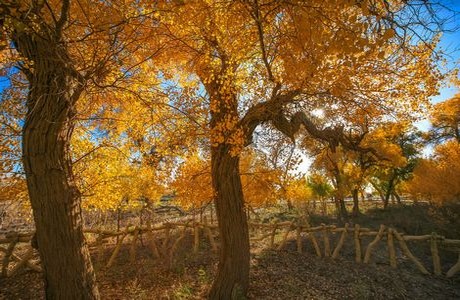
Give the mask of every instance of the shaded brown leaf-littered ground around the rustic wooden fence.
M 436 231 L 450 238 L 459 238 L 455 231 L 460 229 L 459 224 L 455 224 L 459 218 L 455 214 L 451 217 L 451 221 L 446 221 L 450 217 L 437 218 L 428 207 L 411 206 L 386 212 L 370 210 L 350 222 L 371 228 L 383 223 L 407 234 Z M 289 215 L 283 214 L 282 218 L 289 218 Z M 311 222 L 313 225 L 318 222 L 340 225 L 333 218 L 320 216 L 312 216 Z M 336 237 L 331 242 L 334 246 Z M 363 241 L 363 246 L 368 242 Z M 130 263 L 127 244 L 121 248 L 110 269 L 104 269 L 103 264 L 98 263 L 96 249 L 93 249 L 102 299 L 205 298 L 215 275 L 218 255 L 212 253 L 207 241 L 203 240 L 196 254 L 191 251 L 192 244 L 193 237 L 187 235 L 172 263 L 152 258 L 149 248 L 141 243 L 138 244 L 136 262 Z M 108 260 L 113 246 L 106 245 L 103 262 Z M 268 241 L 252 246 L 250 299 L 460 299 L 460 274 L 451 279 L 422 275 L 399 249 L 398 268 L 392 269 L 385 246 L 377 248 L 370 264 L 354 262 L 351 239 L 335 260 L 316 257 L 306 239 L 304 253 L 297 253 L 296 247 L 295 240 L 289 240 L 279 251 L 268 249 Z M 409 247 L 432 271 L 429 245 L 417 246 L 414 243 Z M 445 273 L 457 257 L 442 250 L 440 254 Z M 0 278 L 0 299 L 44 299 L 41 274 L 24 271 L 12 278 Z

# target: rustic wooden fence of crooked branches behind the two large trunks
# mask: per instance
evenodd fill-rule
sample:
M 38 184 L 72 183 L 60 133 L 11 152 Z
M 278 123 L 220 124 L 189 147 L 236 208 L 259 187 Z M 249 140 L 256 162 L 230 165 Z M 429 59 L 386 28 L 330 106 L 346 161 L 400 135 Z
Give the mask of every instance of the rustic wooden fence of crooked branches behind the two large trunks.
M 378 230 L 363 228 L 359 224 L 349 226 L 345 224 L 344 227 L 337 228 L 334 225 L 324 225 L 317 227 L 310 227 L 302 224 L 300 221 L 295 222 L 278 222 L 278 223 L 250 223 L 250 228 L 256 233 L 251 242 L 260 242 L 270 238 L 269 246 L 272 249 L 281 250 L 285 247 L 287 241 L 294 238 L 296 241 L 297 251 L 302 253 L 304 251 L 304 240 L 311 242 L 315 254 L 318 257 L 330 257 L 336 259 L 345 244 L 347 238 L 352 239 L 354 245 L 355 261 L 357 263 L 369 264 L 371 262 L 372 253 L 378 245 L 382 245 L 386 241 L 388 260 L 392 268 L 397 268 L 396 260 L 396 242 L 399 245 L 402 253 L 410 259 L 423 274 L 431 274 L 424 264 L 411 252 L 407 245 L 407 241 L 416 241 L 429 243 L 432 257 L 433 274 L 436 276 L 442 275 L 441 270 L 441 257 L 440 248 L 453 251 L 458 254 L 458 260 L 447 273 L 446 277 L 452 277 L 460 271 L 460 240 L 447 239 L 443 236 L 432 233 L 429 235 L 411 236 L 404 235 L 393 228 L 380 225 Z M 129 242 L 129 259 L 131 262 L 136 260 L 137 243 L 142 236 L 147 236 L 147 246 L 150 248 L 152 254 L 156 258 L 165 259 L 167 262 L 172 263 L 172 259 L 178 245 L 187 235 L 187 232 L 193 236 L 193 252 L 197 253 L 200 248 L 200 242 L 203 238 L 209 241 L 210 249 L 217 252 L 219 244 L 218 227 L 217 225 L 204 223 L 177 222 L 177 223 L 163 223 L 158 226 L 152 226 L 150 223 L 147 226 L 128 226 L 122 231 L 110 231 L 102 229 L 85 229 L 85 233 L 95 236 L 94 243 L 91 246 L 97 249 L 97 261 L 103 263 L 105 268 L 110 268 L 117 256 L 123 243 L 130 236 Z M 277 237 L 281 234 L 281 241 L 276 242 Z M 331 241 L 332 234 L 339 234 L 335 246 Z M 2 276 L 13 276 L 25 267 L 34 271 L 41 271 L 41 267 L 37 262 L 35 250 L 30 246 L 32 233 L 9 233 L 5 238 L 0 239 L 0 251 L 3 252 L 2 259 Z M 367 247 L 362 247 L 362 238 L 371 237 L 372 241 Z M 111 251 L 111 255 L 107 262 L 103 262 L 103 248 L 104 243 L 108 239 L 115 239 L 116 243 Z M 322 243 L 318 242 L 322 240 Z M 27 243 L 25 250 L 23 249 L 22 255 L 15 254 L 14 250 L 20 243 Z M 125 243 L 126 244 L 126 243 Z M 6 245 L 6 246 L 4 246 Z M 322 245 L 322 249 L 320 247 Z M 24 248 L 24 247 L 22 247 Z M 13 264 L 11 264 L 13 262 Z

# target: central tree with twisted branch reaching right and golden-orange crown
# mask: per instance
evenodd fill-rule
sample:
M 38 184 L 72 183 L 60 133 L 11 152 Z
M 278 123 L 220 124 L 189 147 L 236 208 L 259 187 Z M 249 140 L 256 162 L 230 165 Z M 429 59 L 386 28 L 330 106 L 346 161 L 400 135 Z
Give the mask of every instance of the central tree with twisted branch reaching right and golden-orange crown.
M 439 78 L 434 43 L 411 29 L 410 6 L 404 3 L 163 5 L 158 21 L 176 45 L 182 68 L 201 81 L 209 101 L 212 185 L 222 241 L 210 298 L 244 296 L 249 235 L 239 161 L 256 128 L 269 124 L 294 140 L 302 127 L 332 148 L 369 150 L 345 134 L 340 121 L 390 112 L 407 116 L 407 106 L 413 112 L 423 109 Z M 423 42 L 414 43 L 416 35 Z M 318 104 L 337 113 L 324 127 L 306 113 Z

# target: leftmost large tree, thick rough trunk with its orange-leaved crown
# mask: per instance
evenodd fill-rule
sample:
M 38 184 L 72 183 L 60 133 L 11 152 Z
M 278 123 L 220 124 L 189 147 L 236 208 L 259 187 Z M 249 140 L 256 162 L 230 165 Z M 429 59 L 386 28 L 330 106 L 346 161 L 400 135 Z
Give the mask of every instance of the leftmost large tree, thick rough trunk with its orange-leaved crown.
M 0 4 L 2 66 L 17 67 L 28 83 L 22 161 L 48 299 L 99 298 L 82 231 L 70 140 L 83 96 L 132 79 L 136 66 L 152 53 L 133 42 L 143 22 L 135 17 L 138 10 L 112 4 Z

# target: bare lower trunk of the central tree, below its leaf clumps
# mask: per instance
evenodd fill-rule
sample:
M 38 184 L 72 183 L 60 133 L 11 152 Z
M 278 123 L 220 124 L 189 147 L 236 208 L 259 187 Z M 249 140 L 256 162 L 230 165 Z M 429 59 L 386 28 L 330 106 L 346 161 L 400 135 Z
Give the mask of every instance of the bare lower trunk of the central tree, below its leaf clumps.
M 239 157 L 228 145 L 212 148 L 212 185 L 219 221 L 221 248 L 219 268 L 210 299 L 243 298 L 249 286 L 249 232 L 244 211 Z

